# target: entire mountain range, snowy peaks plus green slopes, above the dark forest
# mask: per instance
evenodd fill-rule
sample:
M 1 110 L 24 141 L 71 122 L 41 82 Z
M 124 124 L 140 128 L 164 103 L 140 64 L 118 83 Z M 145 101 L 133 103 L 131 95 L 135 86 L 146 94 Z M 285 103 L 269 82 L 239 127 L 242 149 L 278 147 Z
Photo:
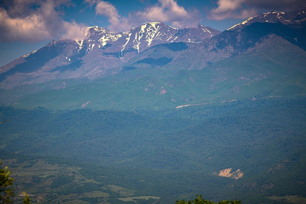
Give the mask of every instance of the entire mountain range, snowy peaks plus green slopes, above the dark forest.
M 117 98 L 119 86 L 145 98 L 137 104 L 135 99 L 128 108 L 154 101 L 161 102 L 159 107 L 175 107 L 191 101 L 305 94 L 305 11 L 259 14 L 223 32 L 203 25 L 177 29 L 162 22 L 142 23 L 121 33 L 88 27 L 83 40 L 52 40 L 1 67 L 0 102 L 54 108 L 59 105 L 56 90 L 73 95 L 92 84 L 103 86 L 94 92 L 108 95 L 108 101 L 79 96 L 65 108 L 88 101 L 106 107 L 128 104 L 130 95 Z M 126 84 L 137 80 L 138 86 Z M 50 94 L 52 99 L 41 101 Z M 168 97 L 163 102 L 156 99 L 160 95 Z

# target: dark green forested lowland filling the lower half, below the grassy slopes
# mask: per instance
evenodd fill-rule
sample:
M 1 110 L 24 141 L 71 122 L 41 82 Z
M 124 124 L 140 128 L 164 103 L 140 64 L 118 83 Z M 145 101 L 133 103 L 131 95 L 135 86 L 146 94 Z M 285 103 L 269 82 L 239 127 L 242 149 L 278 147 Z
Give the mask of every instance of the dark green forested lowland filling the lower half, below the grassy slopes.
M 305 96 L 133 112 L 0 107 L 0 121 L 17 195 L 39 203 L 306 201 Z

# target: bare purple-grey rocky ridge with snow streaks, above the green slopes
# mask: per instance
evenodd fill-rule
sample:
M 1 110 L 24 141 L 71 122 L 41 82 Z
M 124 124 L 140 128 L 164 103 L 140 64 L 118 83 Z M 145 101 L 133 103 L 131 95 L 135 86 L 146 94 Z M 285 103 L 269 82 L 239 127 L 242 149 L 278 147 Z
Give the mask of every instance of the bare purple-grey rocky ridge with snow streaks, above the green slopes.
M 306 50 L 305 11 L 259 14 L 221 33 L 203 25 L 179 30 L 162 22 L 121 33 L 88 27 L 84 40 L 53 40 L 1 67 L 0 88 L 92 80 L 139 68 L 203 69 L 237 54 L 269 49 L 275 37 Z

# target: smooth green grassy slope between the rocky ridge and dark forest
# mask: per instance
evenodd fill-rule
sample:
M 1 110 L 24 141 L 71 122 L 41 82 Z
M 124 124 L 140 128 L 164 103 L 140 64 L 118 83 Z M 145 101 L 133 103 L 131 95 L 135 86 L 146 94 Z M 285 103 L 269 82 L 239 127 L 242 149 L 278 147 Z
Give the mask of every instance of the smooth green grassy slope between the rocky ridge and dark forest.
M 160 109 L 306 94 L 306 52 L 280 37 L 267 43 L 263 40 L 255 51 L 201 70 L 179 70 L 171 64 L 136 68 L 88 84 L 28 95 L 15 105 L 51 109 Z

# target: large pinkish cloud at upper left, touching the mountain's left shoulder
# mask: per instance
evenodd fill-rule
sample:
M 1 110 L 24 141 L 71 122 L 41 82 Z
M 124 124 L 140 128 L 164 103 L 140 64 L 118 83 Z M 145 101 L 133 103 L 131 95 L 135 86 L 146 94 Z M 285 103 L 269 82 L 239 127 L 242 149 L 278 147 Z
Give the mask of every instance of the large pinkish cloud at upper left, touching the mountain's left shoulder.
M 0 8 L 0 41 L 37 42 L 58 38 L 60 35 L 71 35 L 79 39 L 85 26 L 59 18 L 57 8 L 63 3 L 68 5 L 69 1 L 10 1 L 7 10 Z M 85 36 L 85 32 L 83 35 Z

